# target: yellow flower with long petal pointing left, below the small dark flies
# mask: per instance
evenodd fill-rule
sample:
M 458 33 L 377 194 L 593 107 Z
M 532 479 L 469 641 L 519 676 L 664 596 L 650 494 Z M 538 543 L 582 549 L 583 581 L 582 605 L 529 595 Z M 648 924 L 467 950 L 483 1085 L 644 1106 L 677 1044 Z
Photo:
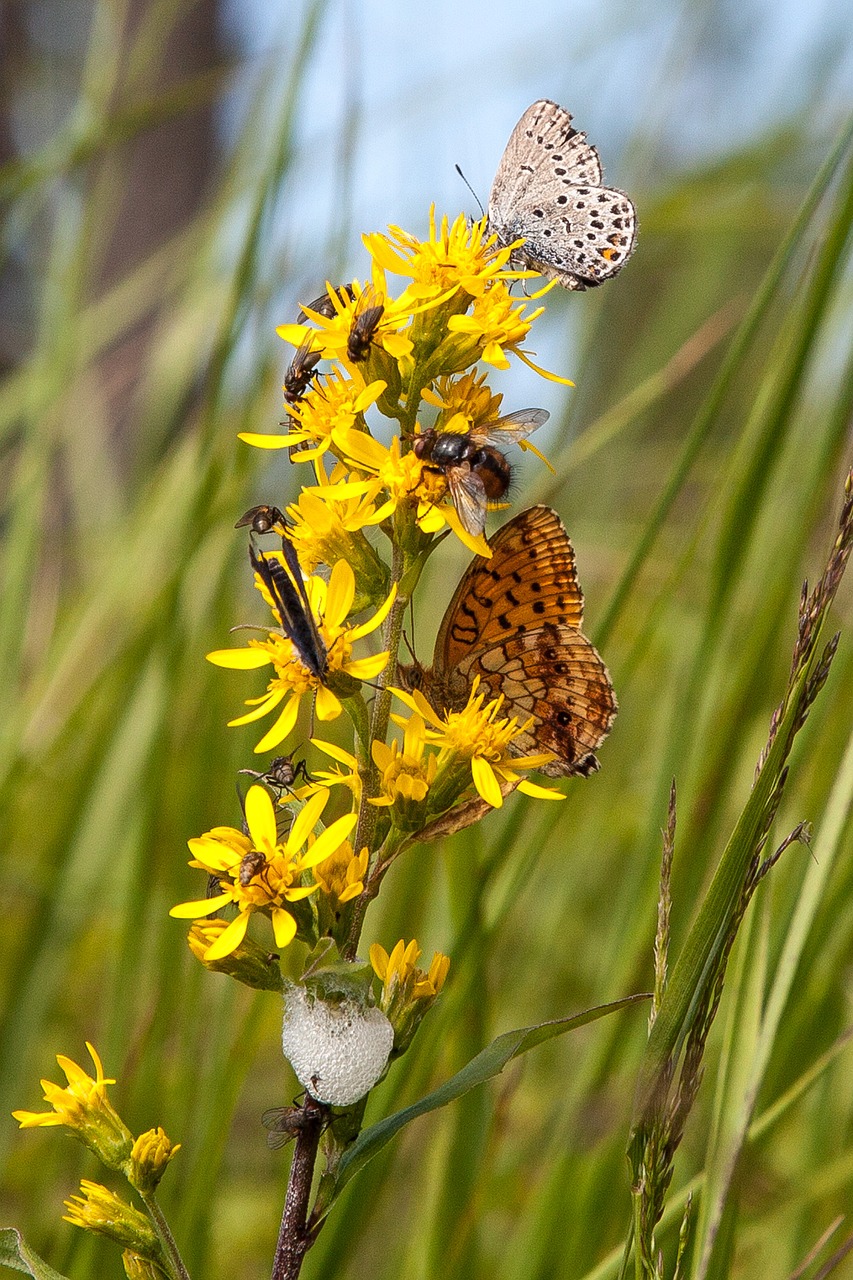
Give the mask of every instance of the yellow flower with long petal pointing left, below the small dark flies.
M 342 369 L 336 369 L 316 385 L 297 404 L 291 406 L 288 422 L 291 430 L 284 435 L 260 435 L 255 431 L 240 431 L 238 439 L 254 444 L 259 449 L 292 449 L 295 445 L 309 444 L 292 454 L 293 462 L 310 462 L 338 447 L 341 431 L 348 431 L 362 415 L 379 399 L 386 383 L 378 379 L 365 387 L 361 375 L 350 378 Z

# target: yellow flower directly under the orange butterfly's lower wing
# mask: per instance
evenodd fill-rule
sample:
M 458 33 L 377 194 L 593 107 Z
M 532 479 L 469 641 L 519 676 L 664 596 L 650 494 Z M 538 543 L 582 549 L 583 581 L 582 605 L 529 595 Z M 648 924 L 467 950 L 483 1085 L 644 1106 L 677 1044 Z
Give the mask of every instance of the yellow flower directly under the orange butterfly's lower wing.
M 540 800 L 565 800 L 560 791 L 540 787 L 521 777 L 520 771 L 538 769 L 553 759 L 552 751 L 537 755 L 511 755 L 510 745 L 520 733 L 525 733 L 532 721 L 519 724 L 516 717 L 502 717 L 503 698 L 485 703 L 485 690 L 479 691 L 479 676 L 474 678 L 467 705 L 461 712 L 446 712 L 439 716 L 433 710 L 419 689 L 411 694 L 394 689 L 393 692 L 407 707 L 411 707 L 434 730 L 426 730 L 426 740 L 441 746 L 439 769 L 456 760 L 469 760 L 471 781 L 478 794 L 494 809 L 503 804 L 501 783 L 507 790 L 519 790 L 524 795 Z M 392 719 L 401 726 L 406 721 L 400 716 Z

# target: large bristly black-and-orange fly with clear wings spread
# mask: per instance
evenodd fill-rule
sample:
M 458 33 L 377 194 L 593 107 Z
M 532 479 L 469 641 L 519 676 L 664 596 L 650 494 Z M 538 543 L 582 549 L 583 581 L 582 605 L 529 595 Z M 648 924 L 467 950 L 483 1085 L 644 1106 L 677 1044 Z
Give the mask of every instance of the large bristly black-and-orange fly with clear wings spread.
M 415 436 L 415 457 L 444 476 L 462 527 L 474 538 L 485 529 L 488 507 L 502 502 L 512 483 L 512 467 L 498 445 L 520 444 L 548 417 L 543 408 L 523 408 L 470 431 L 430 428 Z

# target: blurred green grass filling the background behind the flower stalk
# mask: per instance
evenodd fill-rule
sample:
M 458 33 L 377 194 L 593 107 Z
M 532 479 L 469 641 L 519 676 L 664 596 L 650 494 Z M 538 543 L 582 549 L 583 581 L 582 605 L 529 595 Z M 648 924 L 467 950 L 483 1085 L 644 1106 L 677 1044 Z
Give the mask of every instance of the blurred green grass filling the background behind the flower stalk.
M 50 230 L 36 344 L 0 389 L 0 1112 L 35 1107 L 54 1055 L 82 1060 L 92 1039 L 128 1123 L 161 1124 L 184 1144 L 163 1201 L 191 1271 L 234 1280 L 269 1266 L 287 1158 L 266 1149 L 259 1117 L 296 1088 L 275 1000 L 201 972 L 167 911 L 197 891 L 187 837 L 234 819 L 234 773 L 251 763 L 251 732 L 224 727 L 243 682 L 202 655 L 245 616 L 234 518 L 261 489 L 280 504 L 298 480 L 280 468 L 273 492 L 236 433 L 279 417 L 286 357 L 273 323 L 284 317 L 269 300 L 282 259 L 270 215 L 321 9 L 309 12 L 288 74 L 257 88 L 245 141 L 202 212 L 102 296 L 91 297 L 88 259 L 113 214 L 109 182 L 122 174 L 90 182 L 81 156 L 110 152 L 117 68 L 92 59 L 67 136 L 0 175 L 14 197 L 6 243 L 35 218 Z M 205 79 L 191 100 L 210 92 Z M 164 109 L 152 102 L 129 127 Z M 630 268 L 601 293 L 553 301 L 558 314 L 580 314 L 580 352 L 566 353 L 578 390 L 557 479 L 534 476 L 516 504 L 546 499 L 566 518 L 588 630 L 621 710 L 601 773 L 573 783 L 558 814 L 516 797 L 394 868 L 365 943 L 414 934 L 428 954 L 448 952 L 452 969 L 415 1048 L 377 1091 L 374 1117 L 511 1027 L 649 987 L 672 777 L 678 951 L 748 794 L 786 680 L 802 580 L 822 567 L 850 465 L 849 136 L 836 147 L 799 220 L 833 140 L 817 146 L 789 125 L 665 189 L 638 191 Z M 105 355 L 155 303 L 124 456 Z M 672 370 L 720 314 L 702 358 Z M 424 618 L 444 608 L 450 563 L 448 552 L 430 566 Z M 770 991 L 797 906 L 812 895 L 758 1114 L 849 1021 L 843 794 L 826 846 L 821 818 L 850 733 L 852 613 L 847 585 L 841 648 L 777 823 L 780 833 L 816 823 L 816 863 L 799 847 L 785 855 L 733 961 L 733 991 L 756 965 Z M 815 865 L 826 877 L 809 888 Z M 724 1004 L 674 1198 L 706 1165 L 730 1015 Z M 644 1037 L 638 1014 L 598 1024 L 418 1121 L 345 1193 L 305 1275 L 592 1274 L 629 1222 L 624 1149 Z M 841 1053 L 748 1146 L 731 1198 L 733 1257 L 713 1274 L 757 1274 L 760 1260 L 761 1274 L 788 1275 L 847 1211 L 850 1079 Z M 0 1146 L 3 1220 L 61 1270 L 119 1275 L 114 1253 L 59 1224 L 81 1174 L 99 1176 L 82 1152 L 55 1133 L 18 1135 L 12 1121 Z M 672 1242 L 662 1234 L 667 1251 Z

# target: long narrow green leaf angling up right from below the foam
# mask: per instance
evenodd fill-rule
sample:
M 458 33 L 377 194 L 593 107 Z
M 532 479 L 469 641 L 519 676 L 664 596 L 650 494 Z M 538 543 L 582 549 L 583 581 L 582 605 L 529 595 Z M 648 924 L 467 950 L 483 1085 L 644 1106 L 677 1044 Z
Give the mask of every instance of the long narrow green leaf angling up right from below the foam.
M 528 1050 L 535 1048 L 537 1044 L 543 1044 L 556 1036 L 573 1032 L 578 1027 L 587 1027 L 588 1023 L 598 1021 L 599 1018 L 605 1018 L 607 1014 L 615 1014 L 620 1009 L 628 1009 L 630 1005 L 648 998 L 649 996 L 646 992 L 640 992 L 635 996 L 626 996 L 624 1000 L 616 1000 L 610 1005 L 598 1005 L 594 1009 L 587 1009 L 583 1014 L 575 1014 L 574 1018 L 557 1018 L 553 1021 L 538 1023 L 535 1027 L 521 1027 L 517 1030 L 505 1032 L 503 1036 L 498 1036 L 476 1057 L 473 1057 L 461 1071 L 452 1075 L 438 1089 L 433 1089 L 420 1102 L 415 1102 L 402 1111 L 396 1111 L 393 1115 L 364 1130 L 342 1157 L 334 1185 L 328 1190 L 328 1201 L 323 1197 L 323 1190 L 320 1192 L 320 1198 L 324 1201 L 320 1216 L 328 1213 L 334 1199 L 341 1194 L 350 1179 L 359 1170 L 364 1169 L 368 1161 L 373 1160 L 391 1142 L 394 1134 L 400 1133 L 410 1121 L 416 1120 L 418 1116 L 426 1115 L 429 1111 L 438 1111 L 439 1107 L 446 1107 L 448 1102 L 460 1098 L 469 1089 L 500 1075 L 507 1062 L 511 1062 L 514 1057 L 519 1057 L 521 1053 L 526 1053 Z

